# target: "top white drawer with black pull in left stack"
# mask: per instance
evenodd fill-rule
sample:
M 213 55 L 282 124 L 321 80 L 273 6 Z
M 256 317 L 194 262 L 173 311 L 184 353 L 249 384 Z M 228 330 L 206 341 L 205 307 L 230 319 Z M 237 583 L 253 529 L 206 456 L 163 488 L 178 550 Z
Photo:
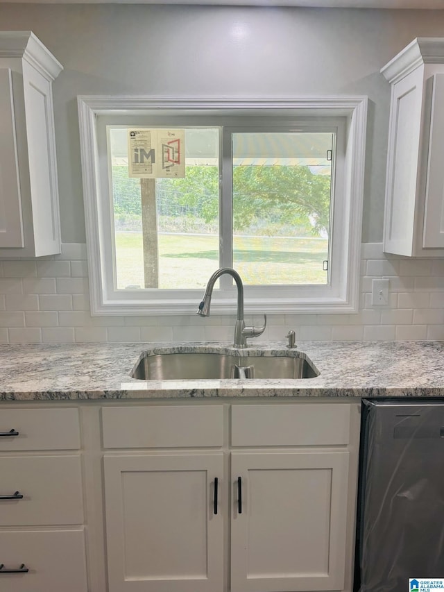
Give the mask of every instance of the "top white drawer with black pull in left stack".
M 18 435 L 3 435 L 18 432 Z M 78 409 L 0 409 L 0 453 L 7 450 L 77 450 Z

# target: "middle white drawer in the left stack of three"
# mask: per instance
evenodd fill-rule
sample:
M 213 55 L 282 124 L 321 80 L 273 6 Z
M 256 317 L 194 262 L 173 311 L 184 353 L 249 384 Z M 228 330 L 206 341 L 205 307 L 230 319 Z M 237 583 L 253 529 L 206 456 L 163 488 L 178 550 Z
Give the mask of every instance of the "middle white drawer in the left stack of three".
M 0 499 L 0 525 L 83 523 L 80 456 L 0 457 L 0 475 L 0 496 L 23 496 Z

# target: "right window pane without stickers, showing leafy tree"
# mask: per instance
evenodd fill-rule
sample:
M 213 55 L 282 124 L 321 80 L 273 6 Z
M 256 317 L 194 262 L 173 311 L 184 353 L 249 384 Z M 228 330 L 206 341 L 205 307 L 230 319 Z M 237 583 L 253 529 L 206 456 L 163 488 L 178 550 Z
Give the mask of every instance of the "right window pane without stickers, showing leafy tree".
M 246 285 L 327 283 L 333 140 L 232 134 L 233 267 Z

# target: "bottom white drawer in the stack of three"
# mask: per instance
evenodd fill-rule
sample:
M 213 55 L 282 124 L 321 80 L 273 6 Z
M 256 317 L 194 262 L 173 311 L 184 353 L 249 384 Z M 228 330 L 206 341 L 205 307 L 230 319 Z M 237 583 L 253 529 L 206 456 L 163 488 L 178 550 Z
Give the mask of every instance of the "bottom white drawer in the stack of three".
M 28 573 L 0 570 L 5 592 L 87 592 L 85 534 L 78 530 L 0 532 L 0 564 Z

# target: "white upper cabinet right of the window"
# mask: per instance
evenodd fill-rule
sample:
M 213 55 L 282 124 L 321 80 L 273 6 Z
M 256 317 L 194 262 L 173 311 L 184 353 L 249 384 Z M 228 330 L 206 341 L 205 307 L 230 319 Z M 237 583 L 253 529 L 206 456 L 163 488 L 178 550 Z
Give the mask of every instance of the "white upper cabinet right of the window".
M 444 257 L 444 38 L 418 37 L 381 71 L 391 83 L 384 251 Z

